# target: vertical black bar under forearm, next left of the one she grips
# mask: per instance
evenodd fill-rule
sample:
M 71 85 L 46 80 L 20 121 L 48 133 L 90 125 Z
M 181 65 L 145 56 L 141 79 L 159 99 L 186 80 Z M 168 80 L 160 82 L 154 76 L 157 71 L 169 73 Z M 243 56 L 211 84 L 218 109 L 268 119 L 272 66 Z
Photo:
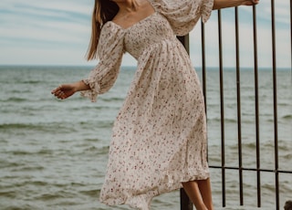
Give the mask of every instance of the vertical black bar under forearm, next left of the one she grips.
M 241 134 L 241 92 L 240 92 L 240 63 L 239 63 L 239 31 L 238 31 L 238 7 L 235 7 L 235 47 L 236 47 L 236 89 L 237 89 L 237 138 L 238 138 L 238 173 L 239 173 L 239 199 L 240 205 L 244 205 L 243 186 L 243 155 Z

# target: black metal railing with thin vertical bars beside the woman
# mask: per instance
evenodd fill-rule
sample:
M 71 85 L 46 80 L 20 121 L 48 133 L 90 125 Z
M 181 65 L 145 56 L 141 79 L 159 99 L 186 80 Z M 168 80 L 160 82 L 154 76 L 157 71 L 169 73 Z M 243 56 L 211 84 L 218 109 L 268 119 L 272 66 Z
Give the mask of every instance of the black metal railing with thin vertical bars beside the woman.
M 287 30 L 287 33 L 290 33 L 291 37 L 291 67 L 292 67 L 292 0 L 289 2 L 290 12 L 290 31 Z M 275 0 L 271 0 L 271 48 L 272 48 L 272 72 L 273 72 L 273 123 L 274 123 L 274 155 L 275 155 L 275 165 L 272 169 L 264 169 L 261 166 L 261 143 L 260 143 L 260 121 L 259 121 L 259 77 L 258 77 L 258 49 L 257 49 L 257 23 L 256 23 L 256 6 L 253 6 L 253 52 L 254 52 L 254 79 L 255 79 L 255 167 L 244 167 L 243 166 L 243 148 L 242 148 L 242 108 L 241 108 L 241 65 L 240 65 L 240 48 L 239 48 L 239 18 L 238 18 L 238 8 L 235 7 L 235 72 L 236 72 L 236 100 L 237 100 L 237 144 L 238 144 L 238 165 L 237 166 L 226 166 L 225 163 L 225 130 L 224 130 L 224 65 L 223 65 L 223 45 L 222 45 L 222 16 L 221 10 L 218 10 L 218 49 L 219 49 L 219 83 L 220 83 L 220 115 L 221 115 L 221 165 L 210 165 L 210 168 L 214 170 L 221 170 L 222 177 L 222 206 L 226 206 L 226 177 L 225 174 L 227 170 L 238 171 L 238 188 L 239 188 L 239 205 L 244 204 L 244 172 L 255 172 L 256 173 L 256 197 L 257 197 L 257 207 L 262 206 L 262 173 L 274 173 L 275 174 L 275 209 L 280 209 L 279 202 L 279 174 L 280 173 L 289 173 L 292 174 L 292 168 L 286 170 L 279 169 L 279 159 L 278 159 L 278 117 L 277 117 L 277 67 L 276 67 L 276 21 L 275 21 Z M 202 23 L 201 25 L 201 37 L 202 37 L 202 80 L 203 80 L 203 94 L 205 96 L 205 106 L 207 105 L 206 101 L 206 56 L 205 56 L 205 29 Z M 183 45 L 186 47 L 189 52 L 189 36 L 178 37 Z M 292 73 L 292 72 L 291 72 Z M 292 74 L 291 74 L 292 75 Z M 291 77 L 292 82 L 292 77 Z M 206 106 L 207 108 L 207 106 Z M 208 110 L 206 109 L 206 112 Z M 291 166 L 292 167 L 292 166 Z M 193 204 L 188 199 L 187 195 L 181 189 L 181 209 L 182 210 L 191 210 L 193 209 Z

